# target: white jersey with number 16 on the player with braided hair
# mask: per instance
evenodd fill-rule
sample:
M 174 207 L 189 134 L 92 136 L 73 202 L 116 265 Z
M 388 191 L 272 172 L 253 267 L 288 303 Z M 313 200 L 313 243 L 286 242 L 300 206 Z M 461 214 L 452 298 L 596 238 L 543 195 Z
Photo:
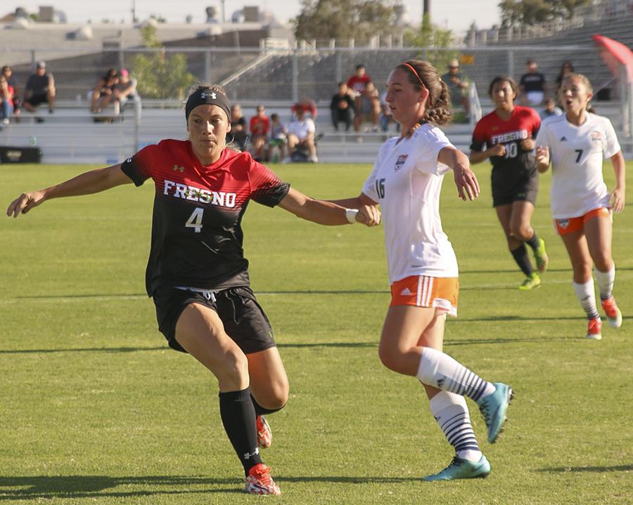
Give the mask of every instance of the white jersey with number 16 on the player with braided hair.
M 457 259 L 440 220 L 440 190 L 449 167 L 437 161 L 453 147 L 423 124 L 410 138 L 390 138 L 378 152 L 363 192 L 381 204 L 389 282 L 410 275 L 457 277 Z

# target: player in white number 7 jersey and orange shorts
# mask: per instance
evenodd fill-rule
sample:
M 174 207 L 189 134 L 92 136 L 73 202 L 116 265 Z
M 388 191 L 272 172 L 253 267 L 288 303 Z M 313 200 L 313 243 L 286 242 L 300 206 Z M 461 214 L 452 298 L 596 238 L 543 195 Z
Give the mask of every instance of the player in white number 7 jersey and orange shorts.
M 615 265 L 611 257 L 612 212 L 625 205 L 625 159 L 613 125 L 587 112 L 592 84 L 581 74 L 568 74 L 559 91 L 565 114 L 544 122 L 538 133 L 537 168 L 551 161 L 551 214 L 574 270 L 574 289 L 589 319 L 587 339 L 600 340 L 594 275 L 609 325 L 619 328 L 622 313 L 613 298 Z M 615 188 L 609 192 L 602 177 L 602 159 L 609 158 Z

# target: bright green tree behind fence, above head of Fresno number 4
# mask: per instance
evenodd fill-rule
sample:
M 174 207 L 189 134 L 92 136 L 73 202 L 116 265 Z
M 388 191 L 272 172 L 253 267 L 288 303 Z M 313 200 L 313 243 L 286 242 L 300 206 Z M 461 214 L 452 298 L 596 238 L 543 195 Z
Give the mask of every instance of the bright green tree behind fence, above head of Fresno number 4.
M 130 70 L 138 80 L 139 94 L 144 98 L 182 100 L 186 90 L 196 81 L 196 77 L 187 71 L 185 55 L 160 51 L 163 45 L 152 25 L 141 28 L 141 37 L 146 47 L 157 51 L 132 57 Z

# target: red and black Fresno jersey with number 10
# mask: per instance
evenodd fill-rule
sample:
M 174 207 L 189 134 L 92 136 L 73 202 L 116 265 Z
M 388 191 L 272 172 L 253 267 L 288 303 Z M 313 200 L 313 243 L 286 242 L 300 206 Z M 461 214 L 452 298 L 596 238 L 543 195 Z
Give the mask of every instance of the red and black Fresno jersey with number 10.
M 521 140 L 536 138 L 541 126 L 539 114 L 530 107 L 515 105 L 508 121 L 504 121 L 497 112 L 482 117 L 473 131 L 471 151 L 482 152 L 496 144 L 506 148 L 504 156 L 491 156 L 492 184 L 513 185 L 526 175 L 536 173 L 535 151 L 525 151 L 520 147 Z

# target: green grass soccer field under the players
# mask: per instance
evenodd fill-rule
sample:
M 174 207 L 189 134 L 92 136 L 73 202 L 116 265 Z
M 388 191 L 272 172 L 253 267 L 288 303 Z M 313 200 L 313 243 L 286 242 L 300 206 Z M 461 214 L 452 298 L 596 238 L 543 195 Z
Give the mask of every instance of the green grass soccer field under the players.
M 85 166 L 0 166 L 0 204 Z M 629 195 L 633 165 L 629 164 Z M 314 197 L 357 195 L 368 165 L 276 166 Z M 423 483 L 452 458 L 416 380 L 385 369 L 378 337 L 389 295 L 383 232 L 319 227 L 252 204 L 245 253 L 290 378 L 269 417 L 264 461 L 283 494 L 252 497 L 222 429 L 217 385 L 158 333 L 143 276 L 153 188 L 54 200 L 0 220 L 0 501 L 11 504 L 633 503 L 633 206 L 615 216 L 615 294 L 625 321 L 584 339 L 586 321 L 549 214 L 533 223 L 551 268 L 535 291 L 491 207 L 447 178 L 442 221 L 461 269 L 447 353 L 516 390 L 495 445 L 472 402 L 492 474 Z M 608 181 L 613 181 L 610 165 Z M 629 204 L 631 199 L 629 197 Z

